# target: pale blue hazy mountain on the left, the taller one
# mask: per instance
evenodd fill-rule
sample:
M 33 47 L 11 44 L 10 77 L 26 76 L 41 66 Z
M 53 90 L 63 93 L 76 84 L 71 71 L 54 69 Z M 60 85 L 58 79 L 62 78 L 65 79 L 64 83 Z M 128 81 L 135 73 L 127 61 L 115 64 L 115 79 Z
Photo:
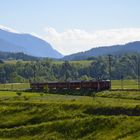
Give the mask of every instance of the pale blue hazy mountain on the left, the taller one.
M 0 51 L 24 52 L 37 57 L 61 58 L 62 55 L 52 46 L 33 35 L 14 33 L 0 29 Z

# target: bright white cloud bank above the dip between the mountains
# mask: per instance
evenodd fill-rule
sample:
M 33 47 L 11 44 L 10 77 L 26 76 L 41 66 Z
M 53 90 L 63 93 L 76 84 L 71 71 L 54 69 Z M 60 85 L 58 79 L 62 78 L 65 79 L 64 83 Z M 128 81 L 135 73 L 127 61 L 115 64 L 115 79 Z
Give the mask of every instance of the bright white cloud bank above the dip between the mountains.
M 46 40 L 63 54 L 72 54 L 88 49 L 125 44 L 131 41 L 140 41 L 140 28 L 110 29 L 96 32 L 87 32 L 80 29 L 68 29 L 58 32 L 54 28 L 46 28 Z

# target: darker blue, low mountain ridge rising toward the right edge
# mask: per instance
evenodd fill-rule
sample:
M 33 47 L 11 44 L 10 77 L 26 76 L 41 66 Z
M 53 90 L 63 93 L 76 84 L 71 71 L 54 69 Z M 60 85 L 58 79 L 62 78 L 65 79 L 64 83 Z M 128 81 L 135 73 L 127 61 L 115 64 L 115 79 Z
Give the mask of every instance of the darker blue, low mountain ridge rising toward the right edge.
M 140 41 L 127 43 L 125 45 L 113 45 L 108 47 L 98 47 L 63 57 L 64 60 L 83 60 L 88 57 L 96 57 L 108 54 L 124 54 L 129 52 L 140 52 Z

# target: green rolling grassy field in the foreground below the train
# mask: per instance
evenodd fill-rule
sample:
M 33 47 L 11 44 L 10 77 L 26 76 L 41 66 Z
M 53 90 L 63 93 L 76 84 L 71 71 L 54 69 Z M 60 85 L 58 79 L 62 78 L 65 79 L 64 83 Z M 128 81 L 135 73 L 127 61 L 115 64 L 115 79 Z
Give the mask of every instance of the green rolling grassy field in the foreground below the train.
M 140 92 L 0 92 L 2 140 L 139 140 Z

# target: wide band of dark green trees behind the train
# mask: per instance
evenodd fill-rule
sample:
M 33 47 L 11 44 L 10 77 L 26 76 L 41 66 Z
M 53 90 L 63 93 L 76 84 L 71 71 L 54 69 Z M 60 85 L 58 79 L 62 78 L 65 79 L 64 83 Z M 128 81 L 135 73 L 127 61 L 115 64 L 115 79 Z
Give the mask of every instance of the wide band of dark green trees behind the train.
M 90 60 L 91 62 L 91 60 Z M 112 79 L 136 79 L 138 54 L 111 57 Z M 52 60 L 0 64 L 0 83 L 109 79 L 108 56 L 94 58 L 88 65 Z

